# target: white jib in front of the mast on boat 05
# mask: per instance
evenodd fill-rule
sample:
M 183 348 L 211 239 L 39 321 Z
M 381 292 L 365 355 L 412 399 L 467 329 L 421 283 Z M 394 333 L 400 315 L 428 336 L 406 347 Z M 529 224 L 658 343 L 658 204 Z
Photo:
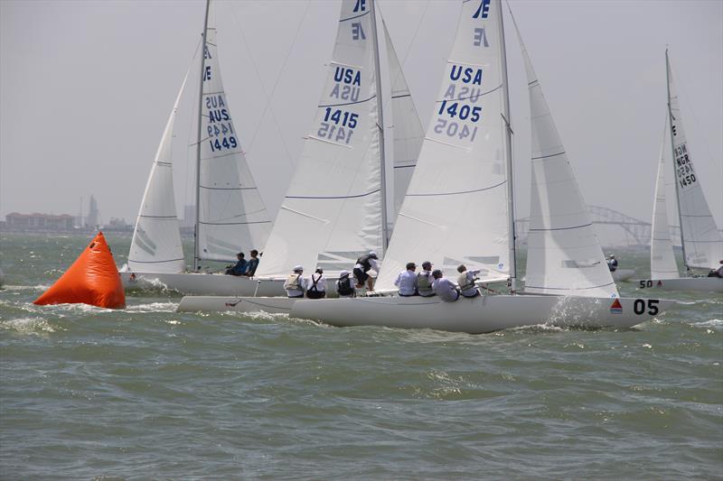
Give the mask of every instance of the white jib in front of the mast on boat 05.
M 525 291 L 618 297 L 519 30 L 517 35 L 527 72 L 532 124 L 532 192 Z

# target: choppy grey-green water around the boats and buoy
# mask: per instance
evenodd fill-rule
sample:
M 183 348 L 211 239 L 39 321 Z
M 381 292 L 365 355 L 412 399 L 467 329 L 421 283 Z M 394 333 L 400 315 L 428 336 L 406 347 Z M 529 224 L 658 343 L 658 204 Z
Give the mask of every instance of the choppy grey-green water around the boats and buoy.
M 34 306 L 89 236 L 1 241 L 3 479 L 723 477 L 719 296 L 479 336 L 176 314 L 169 293 Z M 119 264 L 129 242 L 108 236 Z M 645 275 L 646 251 L 615 254 Z

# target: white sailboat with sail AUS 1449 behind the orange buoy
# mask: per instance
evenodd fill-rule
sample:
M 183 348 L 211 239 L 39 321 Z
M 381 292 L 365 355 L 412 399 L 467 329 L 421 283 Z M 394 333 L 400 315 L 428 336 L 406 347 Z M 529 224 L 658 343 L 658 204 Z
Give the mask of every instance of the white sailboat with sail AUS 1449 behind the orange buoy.
M 200 273 L 202 261 L 234 263 L 236 254 L 266 244 L 271 220 L 241 150 L 219 66 L 211 0 L 206 3 L 196 142 L 196 213 L 193 272 L 186 273 L 175 214 L 171 141 L 186 81 L 155 155 L 121 273 L 126 288 L 164 287 L 184 293 L 258 291 L 246 277 Z M 188 74 L 186 74 L 186 78 Z M 264 291 L 268 295 L 283 290 Z

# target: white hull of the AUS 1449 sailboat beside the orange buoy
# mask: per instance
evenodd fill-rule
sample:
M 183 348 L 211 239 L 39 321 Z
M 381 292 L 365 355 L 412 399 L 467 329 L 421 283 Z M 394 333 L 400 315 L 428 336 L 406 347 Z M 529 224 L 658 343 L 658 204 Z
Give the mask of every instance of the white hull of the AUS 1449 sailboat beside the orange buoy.
M 221 273 L 120 273 L 129 290 L 178 291 L 200 296 L 285 296 L 283 279 L 263 279 Z

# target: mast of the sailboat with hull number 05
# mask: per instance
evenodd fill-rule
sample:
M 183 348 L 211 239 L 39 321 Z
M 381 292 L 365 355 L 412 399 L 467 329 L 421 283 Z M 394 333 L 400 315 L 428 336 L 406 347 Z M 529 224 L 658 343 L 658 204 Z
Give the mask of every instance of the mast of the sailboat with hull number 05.
M 517 244 L 517 235 L 514 228 L 514 189 L 512 188 L 513 173 L 512 173 L 512 124 L 510 120 L 510 88 L 507 83 L 507 53 L 505 51 L 504 43 L 504 22 L 502 21 L 502 2 L 500 2 L 500 14 L 498 15 L 497 23 L 500 26 L 500 42 L 502 51 L 502 84 L 504 91 L 504 112 L 502 113 L 502 120 L 505 124 L 505 157 L 507 161 L 507 219 L 508 219 L 508 232 L 510 239 L 510 291 L 514 293 L 517 291 L 517 252 L 515 245 Z

